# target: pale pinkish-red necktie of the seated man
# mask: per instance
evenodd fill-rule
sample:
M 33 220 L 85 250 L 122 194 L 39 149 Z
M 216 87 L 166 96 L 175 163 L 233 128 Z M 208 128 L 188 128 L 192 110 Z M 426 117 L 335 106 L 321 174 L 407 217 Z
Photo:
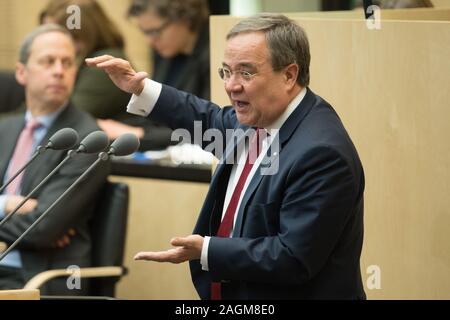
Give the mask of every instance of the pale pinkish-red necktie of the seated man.
M 42 124 L 36 119 L 31 119 L 27 122 L 25 128 L 17 140 L 16 148 L 14 149 L 14 154 L 11 158 L 11 163 L 9 165 L 8 174 L 12 176 L 17 171 L 19 171 L 31 156 L 31 149 L 33 147 L 33 135 L 34 131 L 39 128 Z M 22 182 L 23 172 L 17 176 L 17 178 L 11 182 L 11 184 L 6 188 L 6 194 L 17 194 L 19 191 L 20 184 Z

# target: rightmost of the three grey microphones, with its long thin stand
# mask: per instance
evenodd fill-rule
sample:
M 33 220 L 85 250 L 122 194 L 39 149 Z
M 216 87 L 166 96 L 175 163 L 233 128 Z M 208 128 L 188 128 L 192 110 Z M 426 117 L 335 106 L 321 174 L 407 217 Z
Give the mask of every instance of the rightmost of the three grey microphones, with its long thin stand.
M 99 139 L 100 140 L 100 139 Z M 81 145 L 81 143 L 80 143 Z M 83 180 L 100 162 L 105 162 L 110 159 L 110 156 L 117 155 L 117 156 L 126 156 L 133 152 L 135 152 L 139 148 L 139 139 L 133 135 L 133 134 L 124 134 L 118 137 L 109 147 L 107 152 L 100 152 L 98 155 L 98 159 L 87 168 L 83 174 L 78 177 L 77 180 L 75 180 L 70 187 L 64 191 L 63 194 L 61 194 L 58 199 L 53 202 L 53 204 L 45 210 L 41 216 L 36 219 L 35 222 L 31 226 L 28 227 L 27 230 L 25 230 L 22 235 L 17 238 L 16 241 L 14 241 L 1 255 L 0 255 L 0 261 L 12 250 L 14 249 L 17 244 L 22 240 L 39 222 L 42 221 L 42 219 L 45 218 L 45 216 L 68 194 L 70 193 L 79 183 L 81 180 Z M 105 148 L 103 148 L 105 149 Z M 102 149 L 102 150 L 103 150 Z

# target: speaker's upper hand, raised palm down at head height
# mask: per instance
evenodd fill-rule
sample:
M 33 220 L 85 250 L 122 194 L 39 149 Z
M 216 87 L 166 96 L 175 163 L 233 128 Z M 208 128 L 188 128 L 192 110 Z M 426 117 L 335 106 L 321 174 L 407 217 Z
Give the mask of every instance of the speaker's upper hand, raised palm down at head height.
M 134 71 L 131 64 L 124 59 L 103 55 L 87 58 L 86 63 L 88 66 L 104 70 L 114 84 L 123 91 L 140 95 L 144 90 L 144 79 L 148 77 L 148 74 Z

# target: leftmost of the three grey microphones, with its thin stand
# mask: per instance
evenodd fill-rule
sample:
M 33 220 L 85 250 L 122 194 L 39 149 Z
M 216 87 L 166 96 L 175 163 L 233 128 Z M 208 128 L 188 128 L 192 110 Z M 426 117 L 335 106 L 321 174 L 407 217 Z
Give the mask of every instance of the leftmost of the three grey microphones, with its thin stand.
M 1 186 L 0 194 L 8 187 L 14 179 L 16 179 L 39 155 L 45 152 L 47 149 L 51 150 L 67 150 L 73 148 L 78 142 L 78 133 L 72 128 L 64 128 L 55 132 L 50 139 L 48 139 L 47 144 L 43 146 L 38 146 L 36 151 L 31 156 L 31 158 L 25 163 L 25 165 L 20 168 L 8 181 Z

